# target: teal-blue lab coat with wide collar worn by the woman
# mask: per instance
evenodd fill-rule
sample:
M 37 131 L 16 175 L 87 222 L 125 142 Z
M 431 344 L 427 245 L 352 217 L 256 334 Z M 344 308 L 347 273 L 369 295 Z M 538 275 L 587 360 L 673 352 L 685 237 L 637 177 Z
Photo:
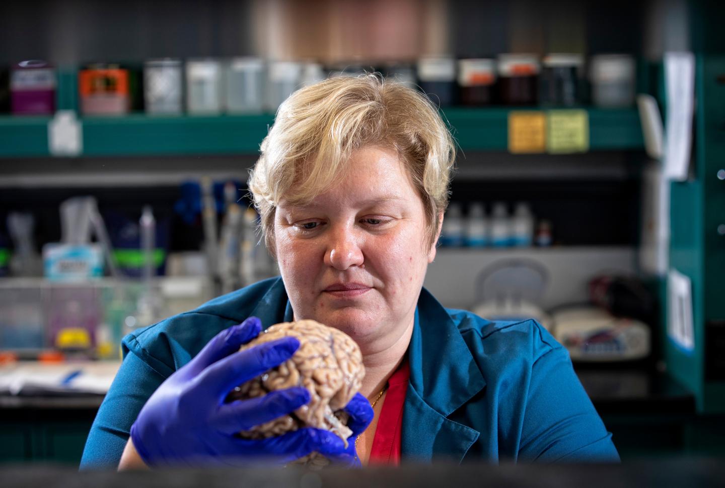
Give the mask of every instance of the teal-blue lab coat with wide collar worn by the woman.
M 281 278 L 215 298 L 123 340 L 80 467 L 115 468 L 131 424 L 170 374 L 221 330 L 292 320 Z M 487 321 L 421 290 L 408 348 L 402 460 L 617 461 L 566 349 L 533 320 Z

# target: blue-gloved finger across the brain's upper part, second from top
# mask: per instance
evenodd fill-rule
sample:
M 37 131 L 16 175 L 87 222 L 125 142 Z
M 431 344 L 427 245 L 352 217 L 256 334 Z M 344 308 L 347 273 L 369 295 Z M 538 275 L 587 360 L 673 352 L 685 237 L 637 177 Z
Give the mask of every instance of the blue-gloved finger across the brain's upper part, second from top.
M 209 395 L 222 403 L 233 387 L 260 376 L 294 355 L 299 348 L 295 337 L 283 337 L 231 354 L 204 369 L 195 381 L 209 388 Z

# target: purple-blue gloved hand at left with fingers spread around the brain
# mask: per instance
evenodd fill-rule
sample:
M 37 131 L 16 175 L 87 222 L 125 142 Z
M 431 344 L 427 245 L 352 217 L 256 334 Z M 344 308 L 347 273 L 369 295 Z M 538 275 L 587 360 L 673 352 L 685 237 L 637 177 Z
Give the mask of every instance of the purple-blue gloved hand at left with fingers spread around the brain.
M 342 440 L 323 429 L 258 440 L 236 435 L 310 401 L 309 392 L 296 387 L 225 403 L 234 387 L 278 366 L 299 348 L 297 339 L 285 337 L 238 352 L 261 329 L 260 319 L 250 317 L 223 330 L 149 397 L 130 430 L 144 463 L 241 466 L 251 458 L 289 463 L 313 451 L 330 458 L 344 453 Z

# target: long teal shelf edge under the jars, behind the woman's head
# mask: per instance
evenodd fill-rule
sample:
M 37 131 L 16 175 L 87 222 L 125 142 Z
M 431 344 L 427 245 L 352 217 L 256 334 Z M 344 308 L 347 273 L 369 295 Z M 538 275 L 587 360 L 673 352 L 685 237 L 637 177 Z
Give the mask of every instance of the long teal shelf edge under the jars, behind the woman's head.
M 531 107 L 444 110 L 463 151 L 507 151 L 508 116 Z M 589 114 L 591 151 L 627 151 L 644 147 L 636 109 L 594 109 Z M 0 157 L 49 156 L 48 117 L 0 117 Z M 273 114 L 158 117 L 81 117 L 82 156 L 179 156 L 254 154 Z

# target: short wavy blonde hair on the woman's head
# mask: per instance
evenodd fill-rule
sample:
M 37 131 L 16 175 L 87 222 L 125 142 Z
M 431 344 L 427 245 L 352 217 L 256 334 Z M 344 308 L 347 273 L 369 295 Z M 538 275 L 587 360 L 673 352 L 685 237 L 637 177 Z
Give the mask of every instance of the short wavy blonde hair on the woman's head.
M 344 171 L 352 151 L 370 146 L 399 154 L 423 201 L 433 243 L 448 204 L 454 141 L 425 95 L 379 75 L 360 75 L 294 92 L 262 140 L 248 184 L 271 253 L 281 199 L 310 203 Z

